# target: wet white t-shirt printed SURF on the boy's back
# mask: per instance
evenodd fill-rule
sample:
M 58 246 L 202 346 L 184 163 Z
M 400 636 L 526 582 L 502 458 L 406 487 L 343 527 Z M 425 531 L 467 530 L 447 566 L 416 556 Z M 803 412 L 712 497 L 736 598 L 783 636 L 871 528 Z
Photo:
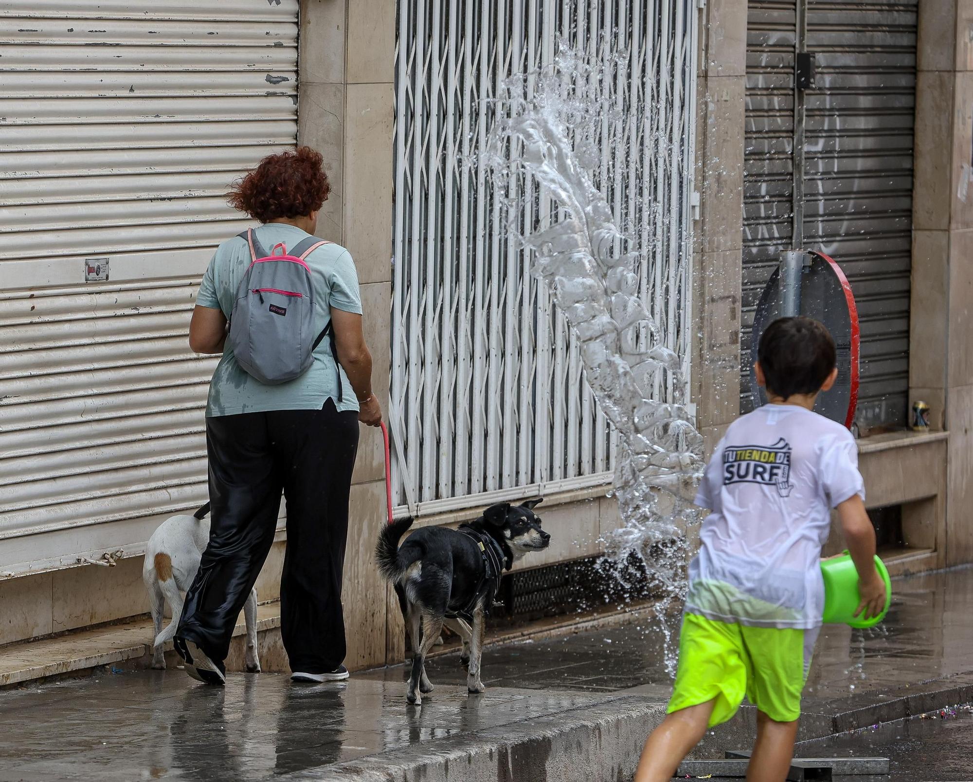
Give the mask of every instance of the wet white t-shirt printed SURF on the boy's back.
M 796 405 L 765 405 L 730 425 L 696 504 L 710 509 L 689 568 L 686 612 L 722 622 L 821 624 L 821 547 L 830 509 L 865 488 L 841 424 Z

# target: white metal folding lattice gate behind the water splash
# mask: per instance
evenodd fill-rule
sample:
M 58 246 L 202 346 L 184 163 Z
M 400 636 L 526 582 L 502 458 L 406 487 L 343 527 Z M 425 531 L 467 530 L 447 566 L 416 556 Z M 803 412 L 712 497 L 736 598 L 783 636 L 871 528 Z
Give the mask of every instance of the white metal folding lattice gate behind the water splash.
M 414 513 L 607 482 L 613 465 L 574 340 L 476 162 L 489 98 L 511 74 L 549 65 L 559 40 L 592 57 L 606 42 L 628 51 L 619 100 L 653 107 L 651 119 L 606 120 L 605 143 L 624 134 L 631 155 L 602 155 L 596 179 L 619 224 L 651 246 L 643 293 L 686 354 L 688 306 L 671 307 L 689 299 L 682 161 L 694 143 L 697 15 L 689 0 L 400 0 L 389 412 L 396 501 Z M 658 196 L 652 208 L 646 194 Z M 519 220 L 547 217 L 543 194 L 525 200 Z

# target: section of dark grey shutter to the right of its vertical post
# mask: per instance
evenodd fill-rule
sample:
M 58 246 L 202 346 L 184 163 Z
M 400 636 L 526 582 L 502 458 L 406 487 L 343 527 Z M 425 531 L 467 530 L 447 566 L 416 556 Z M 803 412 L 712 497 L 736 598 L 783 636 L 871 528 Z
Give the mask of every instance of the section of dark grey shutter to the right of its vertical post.
M 811 2 L 805 243 L 851 283 L 861 326 L 859 425 L 909 406 L 916 0 Z

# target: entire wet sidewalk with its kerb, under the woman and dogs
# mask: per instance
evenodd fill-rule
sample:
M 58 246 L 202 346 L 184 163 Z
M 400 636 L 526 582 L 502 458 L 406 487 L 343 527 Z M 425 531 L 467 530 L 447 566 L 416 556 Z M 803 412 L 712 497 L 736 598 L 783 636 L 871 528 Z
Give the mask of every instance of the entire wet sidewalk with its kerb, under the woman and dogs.
M 822 635 L 802 738 L 973 700 L 973 570 L 895 592 L 883 630 Z M 402 666 L 311 687 L 233 674 L 216 690 L 168 670 L 6 691 L 0 780 L 624 781 L 665 708 L 662 637 L 642 615 L 489 648 L 477 696 L 454 656 L 436 658 L 421 708 L 405 702 Z M 746 746 L 754 717 L 741 709 L 697 757 Z

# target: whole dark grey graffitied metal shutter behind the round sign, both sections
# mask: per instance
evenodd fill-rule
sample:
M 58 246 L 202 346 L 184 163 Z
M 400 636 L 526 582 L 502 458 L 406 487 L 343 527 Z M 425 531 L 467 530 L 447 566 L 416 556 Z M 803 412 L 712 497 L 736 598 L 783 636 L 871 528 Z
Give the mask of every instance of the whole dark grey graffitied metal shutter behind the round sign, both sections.
M 916 0 L 749 0 L 744 411 L 752 406 L 746 378 L 754 307 L 777 254 L 802 246 L 833 257 L 855 295 L 858 423 L 906 421 L 916 6 Z M 797 52 L 813 55 L 810 89 L 796 89 Z M 803 146 L 795 146 L 802 137 Z M 795 225 L 803 235 L 795 235 Z

